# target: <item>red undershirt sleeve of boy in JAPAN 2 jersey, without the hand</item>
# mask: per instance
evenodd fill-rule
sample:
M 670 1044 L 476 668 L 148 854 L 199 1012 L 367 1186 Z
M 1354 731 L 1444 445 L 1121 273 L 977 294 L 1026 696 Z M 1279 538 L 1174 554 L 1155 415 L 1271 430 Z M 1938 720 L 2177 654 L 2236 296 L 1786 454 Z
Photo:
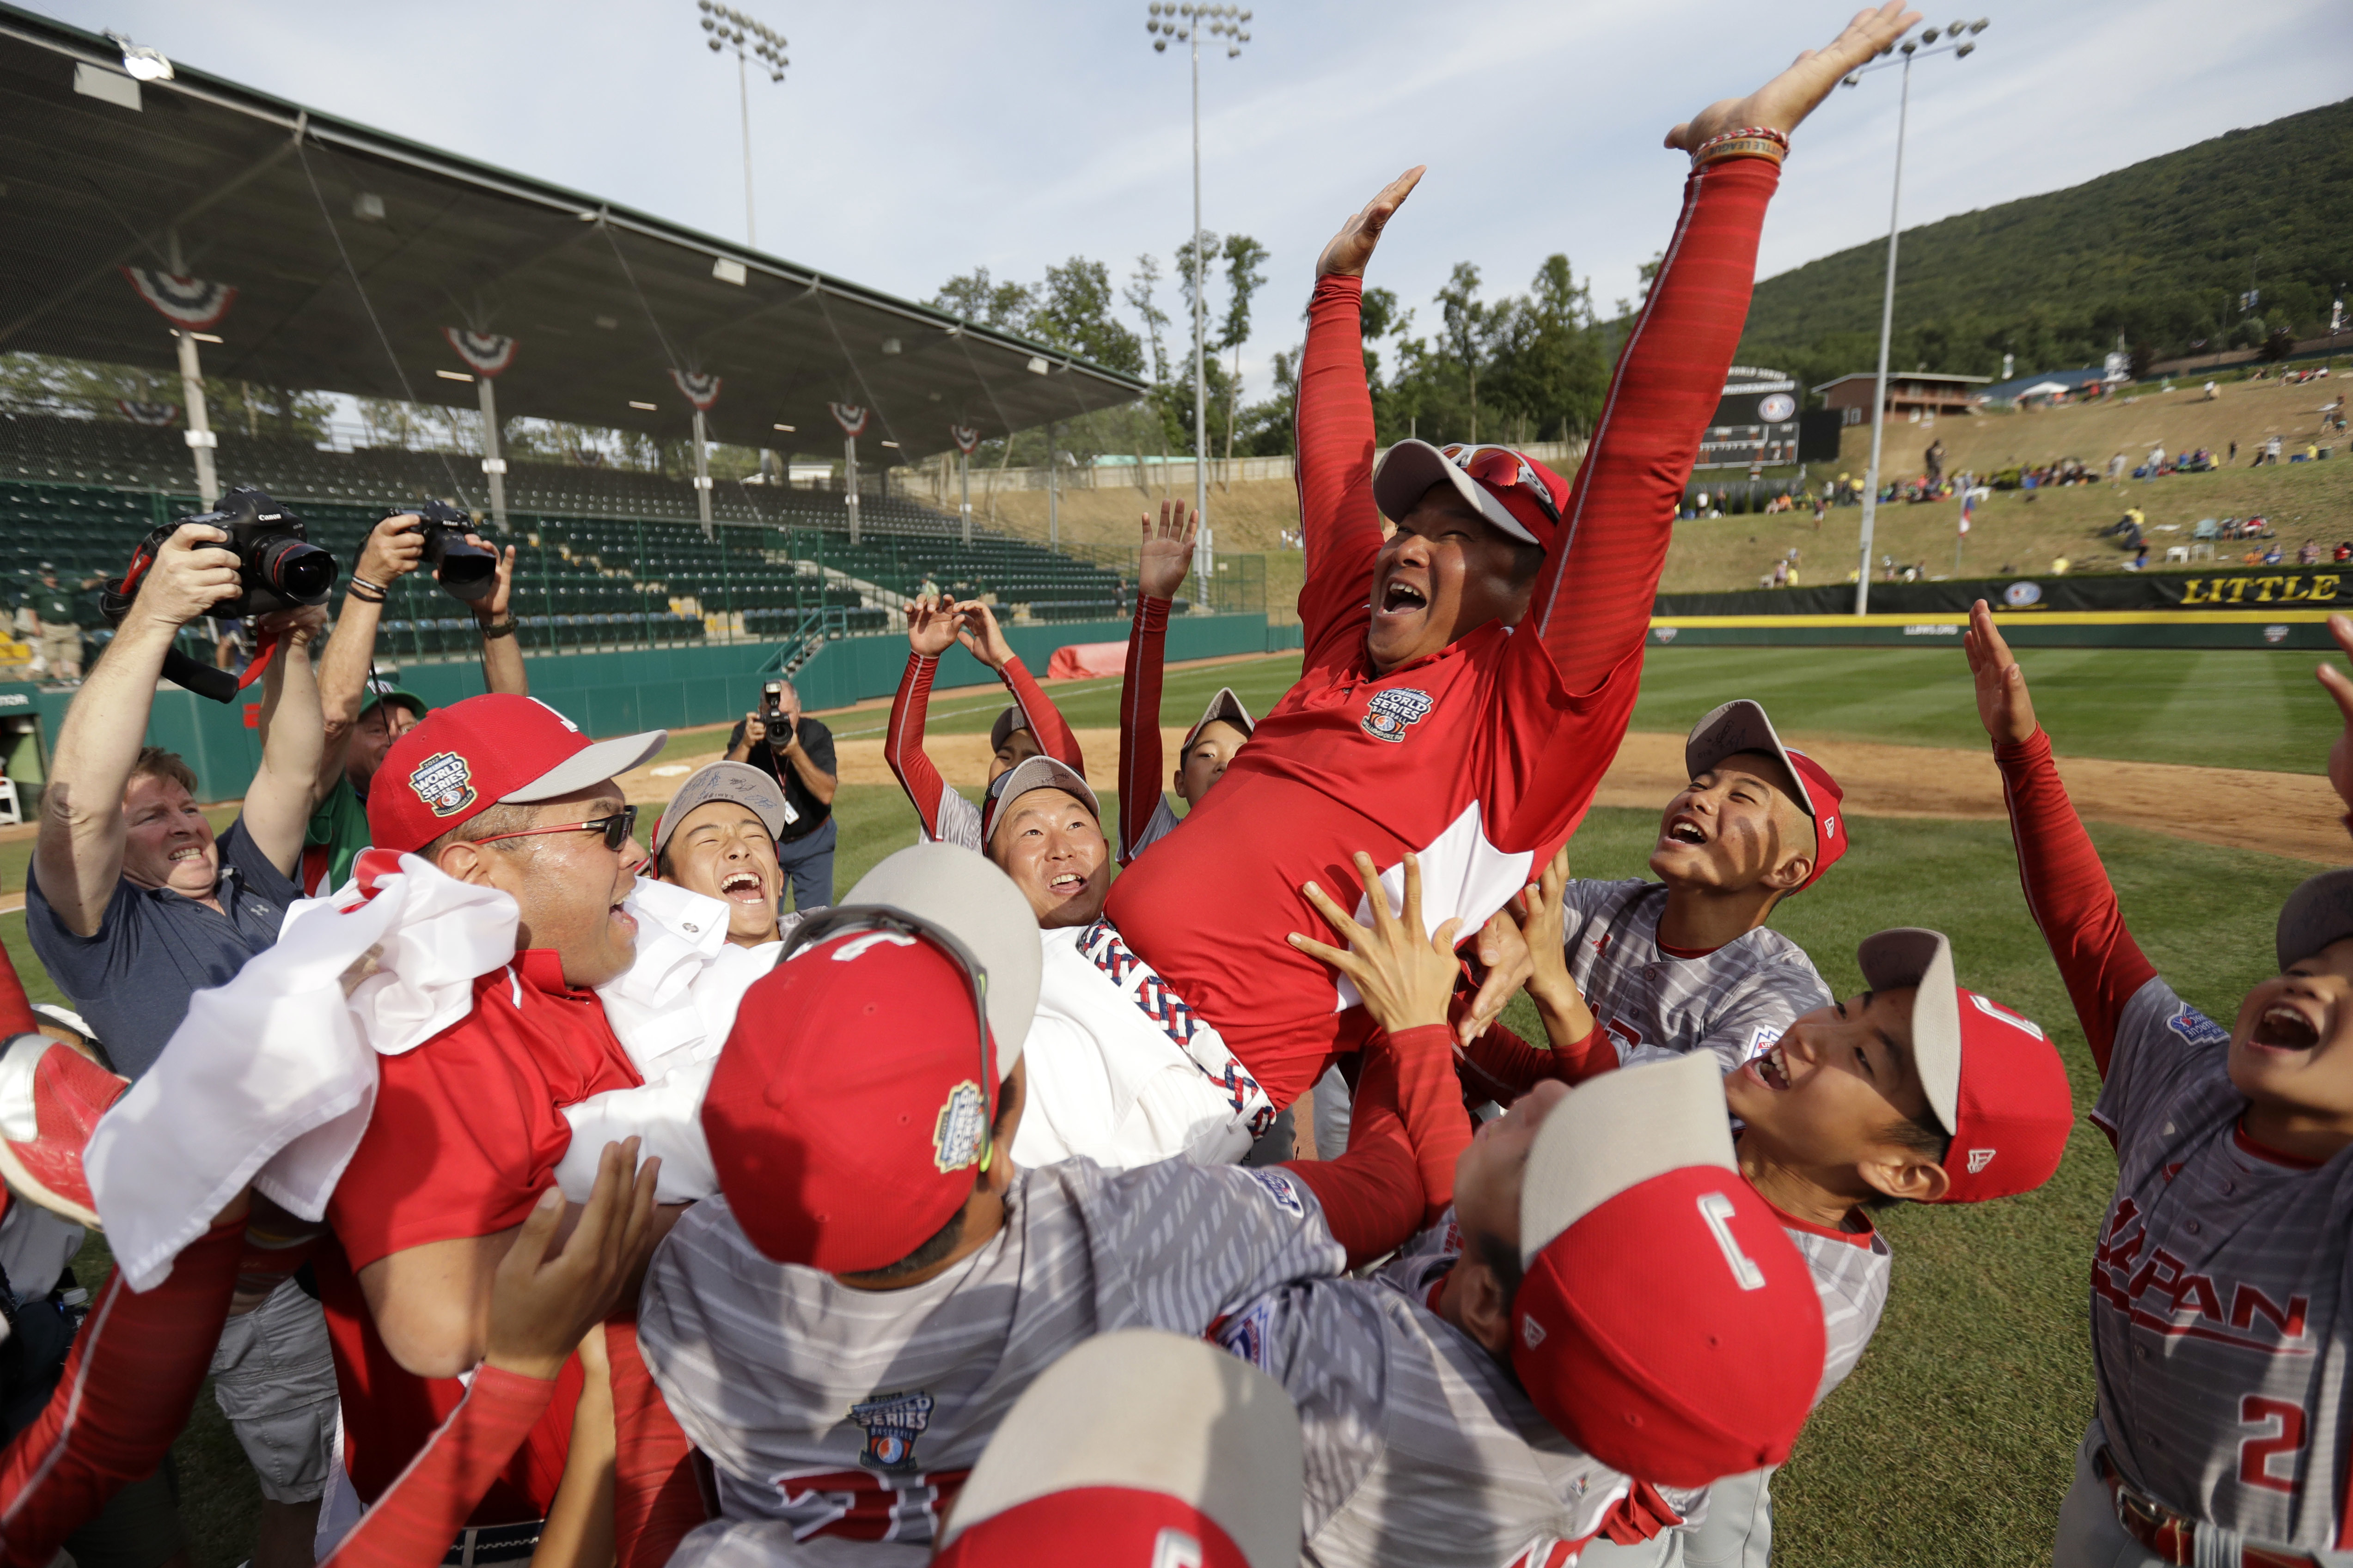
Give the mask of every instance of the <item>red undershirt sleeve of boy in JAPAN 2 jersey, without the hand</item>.
M 2075 1001 L 2075 1018 L 2092 1044 L 2092 1060 L 2108 1077 L 2115 1023 L 2132 994 L 2155 978 L 2158 966 L 2125 929 L 2108 870 L 2059 783 L 2052 738 L 2038 729 L 2014 745 L 1995 743 L 1993 762 L 2002 769 L 2002 804 L 2009 806 L 2026 910 L 2042 926 L 2042 940 L 2049 943 L 2066 994 Z

